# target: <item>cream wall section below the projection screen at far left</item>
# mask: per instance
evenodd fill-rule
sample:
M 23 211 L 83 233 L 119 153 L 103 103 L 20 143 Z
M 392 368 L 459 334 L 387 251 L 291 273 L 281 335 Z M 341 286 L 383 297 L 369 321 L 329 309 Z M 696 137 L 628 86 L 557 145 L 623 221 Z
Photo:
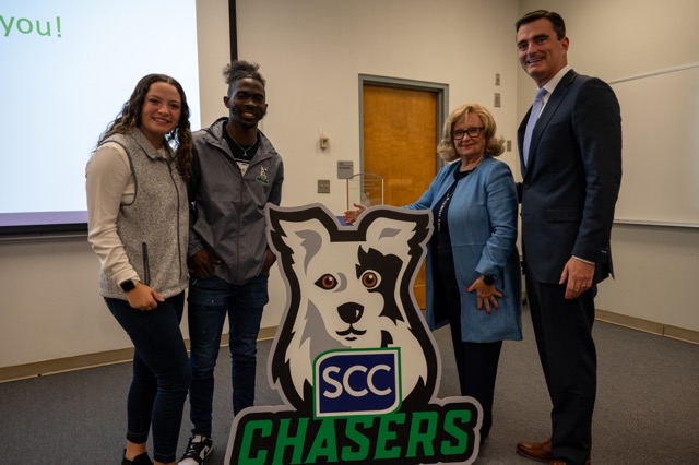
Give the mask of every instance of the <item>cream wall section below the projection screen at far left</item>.
M 0 242 L 0 367 L 130 346 L 86 238 Z

